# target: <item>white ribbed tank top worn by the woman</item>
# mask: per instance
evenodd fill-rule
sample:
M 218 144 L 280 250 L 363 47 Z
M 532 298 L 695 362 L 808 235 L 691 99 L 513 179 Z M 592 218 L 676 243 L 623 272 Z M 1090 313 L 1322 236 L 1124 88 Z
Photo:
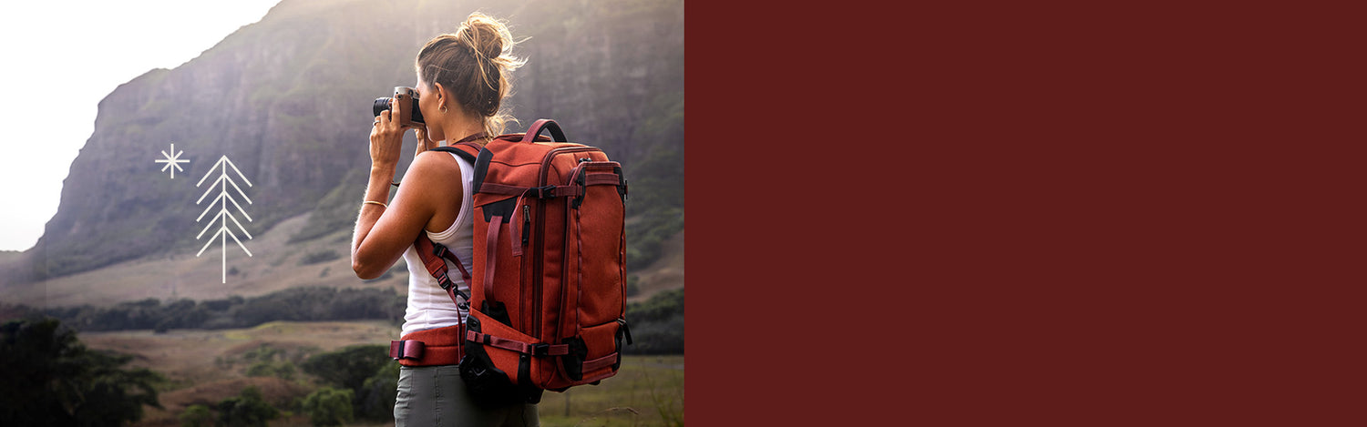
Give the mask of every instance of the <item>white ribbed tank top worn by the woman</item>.
M 455 157 L 457 164 L 461 164 L 461 213 L 455 216 L 455 222 L 451 224 L 451 228 L 440 233 L 428 232 L 425 228 L 422 232 L 433 243 L 439 243 L 454 252 L 461 259 L 461 263 L 465 265 L 466 271 L 474 271 L 472 266 L 474 262 L 474 218 L 472 211 L 474 209 L 470 206 L 473 205 L 470 187 L 474 186 L 474 166 L 459 156 L 455 156 L 455 153 L 448 154 Z M 417 330 L 459 323 L 465 318 L 466 311 L 457 308 L 455 303 L 451 301 L 451 296 L 446 291 L 442 291 L 442 285 L 437 285 L 436 278 L 432 278 L 432 273 L 428 273 L 427 267 L 422 266 L 422 259 L 418 258 L 418 252 L 413 246 L 409 246 L 409 250 L 403 251 L 403 262 L 409 265 L 409 307 L 403 314 L 402 333 L 407 334 Z M 461 270 L 451 261 L 446 263 L 451 269 L 447 277 L 465 295 L 470 295 L 470 285 L 461 278 Z

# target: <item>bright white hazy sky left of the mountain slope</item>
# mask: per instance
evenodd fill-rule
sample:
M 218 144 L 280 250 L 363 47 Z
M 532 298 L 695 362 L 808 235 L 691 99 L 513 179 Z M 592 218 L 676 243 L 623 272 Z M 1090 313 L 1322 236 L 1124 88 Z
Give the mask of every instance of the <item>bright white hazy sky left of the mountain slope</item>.
M 279 0 L 0 0 L 0 250 L 33 247 L 96 108 L 152 68 L 175 68 Z M 148 153 L 148 172 L 160 153 Z

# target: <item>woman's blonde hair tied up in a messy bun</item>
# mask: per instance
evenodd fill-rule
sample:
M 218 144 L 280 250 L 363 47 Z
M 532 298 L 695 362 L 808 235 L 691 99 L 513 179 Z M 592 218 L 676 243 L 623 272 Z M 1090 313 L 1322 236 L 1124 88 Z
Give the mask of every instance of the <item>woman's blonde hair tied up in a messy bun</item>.
M 526 63 L 513 55 L 515 44 L 507 25 L 474 12 L 455 33 L 429 40 L 414 67 L 424 82 L 433 87 L 442 83 L 462 111 L 481 117 L 484 132 L 499 135 L 509 121 L 517 121 L 502 109 L 503 98 L 511 95 L 513 70 Z

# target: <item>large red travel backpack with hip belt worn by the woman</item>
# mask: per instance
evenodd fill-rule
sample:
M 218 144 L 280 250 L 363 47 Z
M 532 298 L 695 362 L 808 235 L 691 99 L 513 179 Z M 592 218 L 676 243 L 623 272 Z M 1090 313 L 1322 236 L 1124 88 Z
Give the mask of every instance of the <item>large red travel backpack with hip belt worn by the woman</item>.
M 483 149 L 435 150 L 474 165 L 474 271 L 425 233 L 417 252 L 470 315 L 465 325 L 392 341 L 390 356 L 405 366 L 459 363 L 472 396 L 495 404 L 537 402 L 541 390 L 615 375 L 622 338 L 632 342 L 622 166 L 597 147 L 566 142 L 544 119 Z M 455 289 L 447 259 L 472 295 Z

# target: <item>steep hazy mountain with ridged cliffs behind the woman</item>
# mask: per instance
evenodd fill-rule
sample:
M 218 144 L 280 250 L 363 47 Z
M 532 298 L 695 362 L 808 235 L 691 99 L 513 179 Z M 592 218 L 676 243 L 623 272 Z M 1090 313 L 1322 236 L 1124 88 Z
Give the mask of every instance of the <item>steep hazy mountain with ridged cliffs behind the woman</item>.
M 633 263 L 660 258 L 682 233 L 682 1 L 283 0 L 194 60 L 100 102 L 57 213 L 34 248 L 5 256 L 3 285 L 189 256 L 204 244 L 195 181 L 223 156 L 250 181 L 249 231 L 283 232 L 297 218 L 280 244 L 336 239 L 365 188 L 372 101 L 416 85 L 418 48 L 476 10 L 526 38 L 515 52 L 529 61 L 507 102 L 521 123 L 509 131 L 551 117 L 621 161 L 642 237 L 629 243 Z M 190 162 L 168 179 L 153 160 L 172 143 Z M 401 165 L 411 143 L 410 132 Z

